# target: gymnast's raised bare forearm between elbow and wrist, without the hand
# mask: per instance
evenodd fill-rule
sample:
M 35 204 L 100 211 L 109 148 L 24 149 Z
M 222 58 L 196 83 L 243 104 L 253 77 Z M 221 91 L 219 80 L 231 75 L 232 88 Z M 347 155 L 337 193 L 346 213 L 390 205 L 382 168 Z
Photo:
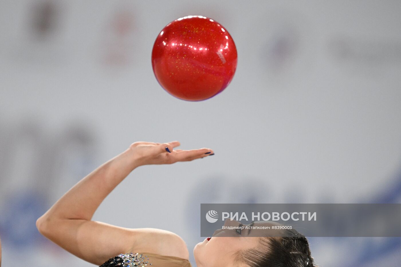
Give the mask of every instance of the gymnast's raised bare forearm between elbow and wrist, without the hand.
M 105 197 L 137 167 L 134 158 L 133 151 L 128 149 L 95 169 L 65 193 L 38 223 L 59 219 L 91 220 Z

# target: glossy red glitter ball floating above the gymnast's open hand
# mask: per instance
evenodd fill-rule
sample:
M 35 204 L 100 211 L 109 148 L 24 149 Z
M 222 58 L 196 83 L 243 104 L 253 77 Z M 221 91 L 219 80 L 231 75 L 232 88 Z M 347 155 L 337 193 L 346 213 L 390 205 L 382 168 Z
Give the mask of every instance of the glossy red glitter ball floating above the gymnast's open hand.
M 152 67 L 160 85 L 190 101 L 223 91 L 237 68 L 237 49 L 227 30 L 204 16 L 178 18 L 154 42 Z

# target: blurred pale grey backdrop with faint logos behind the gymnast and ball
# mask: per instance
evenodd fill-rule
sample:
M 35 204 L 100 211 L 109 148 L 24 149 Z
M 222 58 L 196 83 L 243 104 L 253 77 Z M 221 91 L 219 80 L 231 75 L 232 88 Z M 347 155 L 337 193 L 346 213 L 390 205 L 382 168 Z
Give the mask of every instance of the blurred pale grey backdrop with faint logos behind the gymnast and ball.
M 135 141 L 215 155 L 136 169 L 94 219 L 173 231 L 190 254 L 203 240 L 200 203 L 400 203 L 400 11 L 400 1 L 2 0 L 4 266 L 20 253 L 30 266 L 93 266 L 35 220 Z M 217 20 L 237 46 L 234 79 L 206 101 L 174 98 L 152 71 L 156 35 L 186 15 Z M 401 260 L 397 238 L 310 243 L 325 267 Z

